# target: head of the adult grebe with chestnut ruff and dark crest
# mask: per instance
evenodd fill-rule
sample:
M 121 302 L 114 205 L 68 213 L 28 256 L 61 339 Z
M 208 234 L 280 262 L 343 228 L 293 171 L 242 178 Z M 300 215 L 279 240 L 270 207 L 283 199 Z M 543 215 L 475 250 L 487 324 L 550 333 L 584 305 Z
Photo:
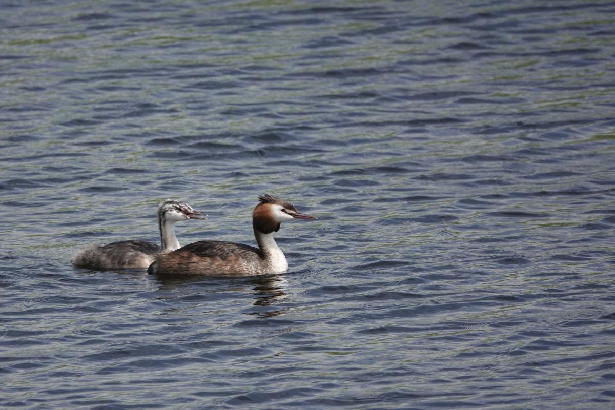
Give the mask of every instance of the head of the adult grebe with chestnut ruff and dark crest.
M 280 230 L 280 224 L 295 219 L 318 219 L 315 216 L 300 213 L 295 205 L 272 197 L 269 194 L 258 197 L 260 201 L 252 213 L 252 223 L 263 234 Z

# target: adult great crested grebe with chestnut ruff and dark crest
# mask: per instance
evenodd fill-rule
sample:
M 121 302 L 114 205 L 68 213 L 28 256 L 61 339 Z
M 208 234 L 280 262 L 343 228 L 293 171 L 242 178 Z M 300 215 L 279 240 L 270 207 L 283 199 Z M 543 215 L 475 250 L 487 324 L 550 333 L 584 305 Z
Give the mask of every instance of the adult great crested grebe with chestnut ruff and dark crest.
M 285 272 L 288 263 L 272 232 L 295 219 L 317 219 L 299 213 L 290 202 L 271 195 L 258 197 L 252 213 L 252 227 L 258 248 L 242 243 L 202 240 L 177 251 L 157 254 L 148 274 L 163 275 L 260 275 Z

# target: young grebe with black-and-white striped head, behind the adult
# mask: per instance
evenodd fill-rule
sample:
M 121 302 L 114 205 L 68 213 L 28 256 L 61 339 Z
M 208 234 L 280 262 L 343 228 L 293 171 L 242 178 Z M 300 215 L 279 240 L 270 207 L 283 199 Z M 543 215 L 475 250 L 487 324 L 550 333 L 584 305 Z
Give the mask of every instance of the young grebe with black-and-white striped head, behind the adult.
M 91 245 L 77 251 L 71 263 L 76 267 L 92 269 L 147 269 L 154 261 L 155 254 L 174 251 L 180 247 L 175 237 L 176 222 L 206 219 L 206 216 L 193 210 L 186 202 L 167 199 L 158 206 L 161 245 L 145 240 L 123 240 L 107 245 Z

